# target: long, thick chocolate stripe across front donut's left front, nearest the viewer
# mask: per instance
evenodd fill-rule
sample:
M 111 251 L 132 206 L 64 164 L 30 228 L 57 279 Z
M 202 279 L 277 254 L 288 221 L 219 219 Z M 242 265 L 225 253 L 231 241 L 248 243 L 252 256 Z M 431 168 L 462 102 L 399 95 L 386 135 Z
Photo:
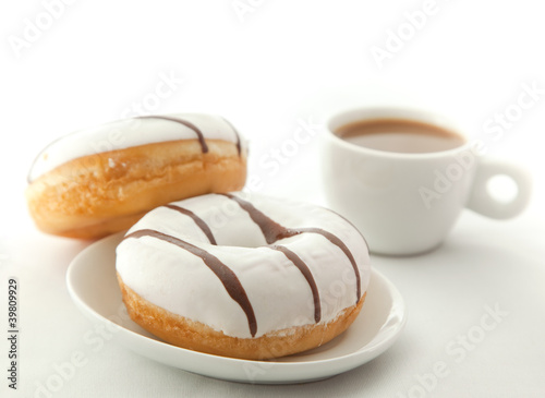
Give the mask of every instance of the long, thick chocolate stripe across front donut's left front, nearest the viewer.
M 211 255 L 201 248 L 197 248 L 191 243 L 187 243 L 169 234 L 155 231 L 153 229 L 141 229 L 128 234 L 124 239 L 142 237 L 160 239 L 203 258 L 203 262 L 208 266 L 208 268 L 210 268 L 210 270 L 216 274 L 219 280 L 221 280 L 229 296 L 241 306 L 242 311 L 244 311 L 244 313 L 246 314 L 250 333 L 252 334 L 252 337 L 255 337 L 255 334 L 257 333 L 257 321 L 255 318 L 254 310 L 239 278 L 227 265 L 225 265 L 216 256 Z

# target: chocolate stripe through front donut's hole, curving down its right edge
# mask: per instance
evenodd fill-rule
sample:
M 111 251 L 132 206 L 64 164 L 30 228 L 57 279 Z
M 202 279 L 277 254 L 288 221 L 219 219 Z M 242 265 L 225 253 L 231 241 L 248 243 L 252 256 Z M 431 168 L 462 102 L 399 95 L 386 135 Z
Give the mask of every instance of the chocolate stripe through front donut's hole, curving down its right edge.
M 257 208 L 255 208 L 254 205 L 252 205 L 250 202 L 246 202 L 239 196 L 235 196 L 230 193 L 222 193 L 221 195 L 229 197 L 232 201 L 235 201 L 242 209 L 244 209 L 250 218 L 259 227 L 259 229 L 263 232 L 263 236 L 265 237 L 265 240 L 267 241 L 267 244 L 275 243 L 276 241 L 284 238 L 291 238 L 300 233 L 305 233 L 305 232 L 311 232 L 311 233 L 318 233 L 325 237 L 327 240 L 329 240 L 332 244 L 337 245 L 348 257 L 350 261 L 350 264 L 352 265 L 352 268 L 355 274 L 355 285 L 356 285 L 356 303 L 360 301 L 362 297 L 361 292 L 361 277 L 360 277 L 360 269 L 358 268 L 358 264 L 355 264 L 354 256 L 348 249 L 348 246 L 335 234 L 331 232 L 328 232 L 322 228 L 300 228 L 300 229 L 290 229 L 281 226 L 280 224 L 276 222 L 271 218 L 267 217 L 264 213 L 259 212 Z

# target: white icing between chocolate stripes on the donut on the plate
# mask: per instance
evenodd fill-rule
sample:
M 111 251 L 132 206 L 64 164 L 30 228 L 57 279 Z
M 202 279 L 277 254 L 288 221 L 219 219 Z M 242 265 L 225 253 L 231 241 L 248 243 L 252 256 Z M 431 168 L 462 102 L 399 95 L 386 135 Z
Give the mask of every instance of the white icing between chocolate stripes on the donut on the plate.
M 361 276 L 361 293 L 370 281 L 367 245 L 342 217 L 310 204 L 237 193 L 258 210 L 288 228 L 315 227 L 340 238 L 352 253 Z M 239 204 L 223 195 L 208 194 L 174 203 L 205 220 L 217 245 L 193 219 L 167 207 L 144 216 L 128 233 L 153 229 L 206 250 L 229 266 L 253 306 L 255 337 L 293 326 L 315 324 L 313 296 L 302 273 L 279 252 L 267 248 L 259 227 Z M 303 260 L 320 296 L 320 324 L 356 302 L 355 273 L 347 255 L 318 233 L 282 239 L 281 244 Z M 131 238 L 117 249 L 117 270 L 123 282 L 142 298 L 174 314 L 204 323 L 228 336 L 250 338 L 245 313 L 228 294 L 220 279 L 203 260 L 174 244 L 153 237 Z

